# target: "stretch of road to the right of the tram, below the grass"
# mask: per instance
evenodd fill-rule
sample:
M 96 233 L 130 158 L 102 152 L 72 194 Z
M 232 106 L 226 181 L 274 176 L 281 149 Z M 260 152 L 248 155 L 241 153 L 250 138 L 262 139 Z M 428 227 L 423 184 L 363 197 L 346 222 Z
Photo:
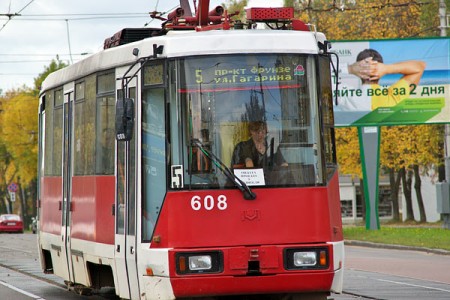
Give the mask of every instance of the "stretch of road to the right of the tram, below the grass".
M 355 246 L 345 251 L 344 294 L 334 299 L 450 299 L 450 255 Z

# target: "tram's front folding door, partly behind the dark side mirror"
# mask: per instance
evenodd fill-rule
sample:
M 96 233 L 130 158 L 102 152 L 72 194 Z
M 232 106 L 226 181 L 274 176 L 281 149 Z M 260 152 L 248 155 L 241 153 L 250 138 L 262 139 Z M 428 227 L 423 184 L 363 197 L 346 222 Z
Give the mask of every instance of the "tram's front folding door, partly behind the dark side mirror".
M 119 76 L 120 77 L 120 76 Z M 127 97 L 137 99 L 136 81 L 128 84 Z M 122 82 L 117 81 L 117 97 L 123 97 Z M 135 116 L 137 101 L 135 101 Z M 133 139 L 117 142 L 117 197 L 115 261 L 119 281 L 119 296 L 139 299 L 136 258 L 136 126 Z

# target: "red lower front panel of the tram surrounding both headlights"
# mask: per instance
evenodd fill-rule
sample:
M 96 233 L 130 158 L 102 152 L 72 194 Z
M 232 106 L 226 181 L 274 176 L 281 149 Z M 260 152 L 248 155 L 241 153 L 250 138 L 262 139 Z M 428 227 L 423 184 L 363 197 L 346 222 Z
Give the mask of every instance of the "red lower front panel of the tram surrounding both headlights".
M 328 263 L 320 268 L 289 269 L 285 249 L 326 249 Z M 329 291 L 334 277 L 333 247 L 330 244 L 289 244 L 263 246 L 236 246 L 219 249 L 195 249 L 219 251 L 223 265 L 217 273 L 178 274 L 172 279 L 177 297 L 219 296 L 233 294 L 267 294 Z M 192 249 L 170 252 L 170 265 L 176 265 L 180 253 L 192 253 Z M 258 275 L 249 275 L 249 261 L 258 262 Z

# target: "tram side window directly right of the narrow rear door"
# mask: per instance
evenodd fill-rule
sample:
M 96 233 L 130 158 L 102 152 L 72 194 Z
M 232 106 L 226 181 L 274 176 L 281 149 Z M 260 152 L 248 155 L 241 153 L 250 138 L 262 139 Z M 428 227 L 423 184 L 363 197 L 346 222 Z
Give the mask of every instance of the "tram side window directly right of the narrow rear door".
M 75 84 L 75 175 L 94 174 L 95 76 Z

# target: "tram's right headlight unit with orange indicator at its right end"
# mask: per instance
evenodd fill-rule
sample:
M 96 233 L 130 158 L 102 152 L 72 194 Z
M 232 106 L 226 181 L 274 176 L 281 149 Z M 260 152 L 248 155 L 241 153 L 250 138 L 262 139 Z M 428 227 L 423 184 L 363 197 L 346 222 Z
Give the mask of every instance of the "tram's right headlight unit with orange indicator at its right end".
M 329 265 L 326 248 L 285 249 L 284 258 L 287 270 L 326 269 Z

